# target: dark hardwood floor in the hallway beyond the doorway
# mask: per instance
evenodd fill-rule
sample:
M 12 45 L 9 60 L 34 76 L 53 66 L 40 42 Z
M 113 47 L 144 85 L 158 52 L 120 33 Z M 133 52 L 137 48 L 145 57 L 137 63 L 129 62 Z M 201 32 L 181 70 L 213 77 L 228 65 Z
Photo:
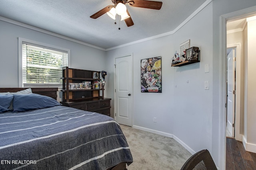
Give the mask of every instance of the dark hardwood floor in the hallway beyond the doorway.
M 226 170 L 256 170 L 256 153 L 246 151 L 242 142 L 227 138 Z

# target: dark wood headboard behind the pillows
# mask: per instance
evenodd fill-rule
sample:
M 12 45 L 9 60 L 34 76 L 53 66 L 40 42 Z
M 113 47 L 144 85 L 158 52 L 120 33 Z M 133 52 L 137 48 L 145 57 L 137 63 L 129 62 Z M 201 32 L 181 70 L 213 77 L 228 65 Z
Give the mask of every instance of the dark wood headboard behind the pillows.
M 20 90 L 25 90 L 28 88 L 0 88 L 1 92 L 18 92 Z M 49 96 L 57 100 L 57 91 L 58 88 L 31 88 L 33 93 L 41 94 L 44 96 Z

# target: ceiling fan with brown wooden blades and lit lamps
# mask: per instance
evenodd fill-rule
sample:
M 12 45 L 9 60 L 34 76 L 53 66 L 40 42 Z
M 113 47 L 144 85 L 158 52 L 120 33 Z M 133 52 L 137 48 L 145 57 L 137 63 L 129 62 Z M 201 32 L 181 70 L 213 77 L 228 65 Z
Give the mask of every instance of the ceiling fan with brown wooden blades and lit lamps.
M 116 19 L 116 14 L 121 16 L 121 21 L 124 20 L 128 27 L 134 25 L 132 18 L 125 6 L 125 4 L 129 4 L 129 6 L 140 7 L 140 8 L 148 8 L 154 10 L 160 10 L 162 7 L 162 2 L 160 1 L 151 1 L 151 0 L 112 0 L 114 5 L 108 5 L 102 10 L 96 12 L 90 18 L 96 19 L 103 14 L 107 13 L 108 16 Z

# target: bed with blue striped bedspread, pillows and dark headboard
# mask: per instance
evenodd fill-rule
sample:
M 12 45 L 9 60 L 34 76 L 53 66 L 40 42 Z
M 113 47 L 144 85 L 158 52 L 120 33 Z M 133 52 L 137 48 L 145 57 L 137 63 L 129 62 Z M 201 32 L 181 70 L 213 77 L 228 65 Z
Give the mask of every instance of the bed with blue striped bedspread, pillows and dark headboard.
M 0 169 L 125 170 L 133 160 L 118 123 L 61 106 L 57 90 L 0 88 Z

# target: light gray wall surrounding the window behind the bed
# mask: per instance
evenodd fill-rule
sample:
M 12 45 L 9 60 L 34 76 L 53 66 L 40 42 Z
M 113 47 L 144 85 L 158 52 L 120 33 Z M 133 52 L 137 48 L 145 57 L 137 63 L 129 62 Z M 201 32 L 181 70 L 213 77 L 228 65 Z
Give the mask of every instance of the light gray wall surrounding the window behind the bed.
M 18 37 L 70 49 L 70 68 L 106 67 L 105 51 L 0 20 L 0 87 L 18 87 Z

